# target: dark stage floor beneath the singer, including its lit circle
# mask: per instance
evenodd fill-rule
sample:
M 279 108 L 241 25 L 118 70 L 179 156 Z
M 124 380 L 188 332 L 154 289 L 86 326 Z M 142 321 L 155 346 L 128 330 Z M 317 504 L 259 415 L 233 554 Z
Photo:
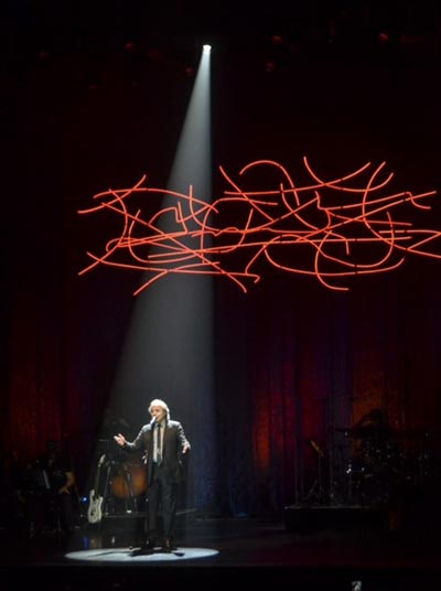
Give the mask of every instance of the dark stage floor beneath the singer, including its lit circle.
M 439 587 L 435 527 L 391 531 L 378 519 L 351 523 L 347 509 L 340 526 L 335 508 L 332 520 L 326 511 L 322 515 L 322 522 L 315 517 L 308 528 L 304 512 L 299 529 L 283 516 L 192 515 L 180 523 L 175 552 L 163 554 L 159 547 L 147 556 L 133 556 L 141 542 L 141 516 L 98 526 L 80 523 L 72 535 L 47 530 L 29 537 L 3 528 L 0 588 L 17 589 L 29 577 L 46 590 L 61 591 L 126 591 L 157 581 L 211 591 L 236 583 L 280 584 L 287 578 L 291 588 L 302 590 Z

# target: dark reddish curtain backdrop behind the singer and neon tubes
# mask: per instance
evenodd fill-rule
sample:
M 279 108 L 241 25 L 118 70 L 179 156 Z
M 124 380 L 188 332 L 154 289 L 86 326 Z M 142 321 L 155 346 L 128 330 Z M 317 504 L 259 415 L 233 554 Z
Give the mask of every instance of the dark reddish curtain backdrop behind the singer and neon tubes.
M 295 175 L 305 154 L 335 179 L 386 160 L 397 191 L 440 190 L 433 56 L 302 55 L 272 73 L 261 57 L 214 52 L 215 166 L 236 175 L 271 159 Z M 86 494 L 139 277 L 106 268 L 78 277 L 86 250 L 99 251 L 115 228 L 77 211 L 143 173 L 166 185 L 194 82 L 184 65 L 160 56 L 132 84 L 108 55 L 94 86 L 80 58 L 61 55 L 3 80 L 2 448 L 4 459 L 17 450 L 33 460 L 46 440 L 64 438 Z M 215 169 L 215 195 L 224 189 Z M 418 224 L 441 228 L 439 200 Z M 376 407 L 409 434 L 400 445 L 438 454 L 440 271 L 440 261 L 409 257 L 399 270 L 351 280 L 346 293 L 268 269 L 247 294 L 216 279 L 217 452 L 204 459 L 211 470 L 196 465 L 196 451 L 189 458 L 187 505 L 248 515 L 302 501 L 316 477 L 312 441 L 334 454 L 344 488 L 352 443 L 342 429 Z M 155 393 L 130 395 L 118 410 L 136 433 Z M 203 417 L 192 396 L 168 401 L 197 450 Z

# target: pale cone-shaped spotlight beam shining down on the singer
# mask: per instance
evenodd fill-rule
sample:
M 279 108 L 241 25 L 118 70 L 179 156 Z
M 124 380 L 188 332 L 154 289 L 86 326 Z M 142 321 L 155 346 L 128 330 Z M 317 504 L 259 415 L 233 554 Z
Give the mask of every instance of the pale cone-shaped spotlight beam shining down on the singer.
M 174 215 L 158 219 L 159 234 L 179 232 L 183 249 L 193 247 L 194 235 L 201 230 L 190 195 L 200 200 L 197 203 L 209 203 L 212 198 L 209 61 L 209 50 L 204 46 L 198 67 L 186 69 L 195 80 L 166 183 L 170 194 L 160 204 L 161 209 Z M 189 198 L 178 202 L 178 194 Z M 209 252 L 209 236 L 203 243 Z M 171 245 L 173 251 L 176 244 Z M 162 252 L 161 245 L 154 245 L 149 257 L 161 260 Z M 146 279 L 140 278 L 140 284 Z M 114 428 L 115 434 L 123 429 L 125 437 L 133 440 L 150 420 L 149 400 L 166 400 L 173 416 L 182 420 L 192 444 L 191 461 L 183 464 L 185 485 L 181 488 L 181 503 L 185 511 L 205 511 L 214 505 L 217 487 L 214 282 L 208 273 L 171 272 L 164 279 L 140 293 L 135 302 L 108 407 L 127 418 L 128 426 Z

